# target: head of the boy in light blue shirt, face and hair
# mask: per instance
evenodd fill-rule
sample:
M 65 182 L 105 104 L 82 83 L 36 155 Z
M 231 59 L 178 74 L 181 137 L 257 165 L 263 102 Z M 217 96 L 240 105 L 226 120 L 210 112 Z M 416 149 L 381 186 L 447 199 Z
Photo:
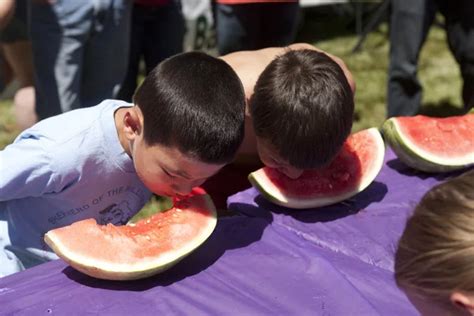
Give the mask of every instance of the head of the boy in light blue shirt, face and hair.
M 150 72 L 133 101 L 125 137 L 138 176 L 156 194 L 188 194 L 232 161 L 242 142 L 243 87 L 220 59 L 173 56 Z

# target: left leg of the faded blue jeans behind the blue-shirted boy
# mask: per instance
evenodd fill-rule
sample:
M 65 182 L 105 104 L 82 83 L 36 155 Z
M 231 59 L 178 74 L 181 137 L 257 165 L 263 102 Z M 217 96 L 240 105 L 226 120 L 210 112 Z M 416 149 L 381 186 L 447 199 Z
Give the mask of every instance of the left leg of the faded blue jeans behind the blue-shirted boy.
M 80 107 L 83 47 L 92 12 L 90 0 L 31 2 L 30 35 L 39 119 Z

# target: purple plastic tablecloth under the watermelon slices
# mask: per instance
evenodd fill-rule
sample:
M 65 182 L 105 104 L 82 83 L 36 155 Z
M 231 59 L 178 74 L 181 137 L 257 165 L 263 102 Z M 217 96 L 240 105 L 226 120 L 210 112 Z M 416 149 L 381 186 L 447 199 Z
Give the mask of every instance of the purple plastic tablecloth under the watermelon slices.
M 167 272 L 102 281 L 62 261 L 0 279 L 0 314 L 417 315 L 393 280 L 393 254 L 419 198 L 443 180 L 387 151 L 374 183 L 351 201 L 289 210 L 254 189 L 232 196 L 244 216 Z

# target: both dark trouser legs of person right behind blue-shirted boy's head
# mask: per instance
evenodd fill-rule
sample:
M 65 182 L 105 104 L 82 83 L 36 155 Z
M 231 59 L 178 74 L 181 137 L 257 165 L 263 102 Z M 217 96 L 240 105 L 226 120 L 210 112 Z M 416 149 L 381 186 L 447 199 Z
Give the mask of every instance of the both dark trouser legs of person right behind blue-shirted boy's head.
M 176 1 L 165 5 L 135 4 L 132 13 L 128 71 L 118 98 L 127 102 L 137 88 L 140 60 L 148 74 L 165 58 L 183 51 L 184 19 Z

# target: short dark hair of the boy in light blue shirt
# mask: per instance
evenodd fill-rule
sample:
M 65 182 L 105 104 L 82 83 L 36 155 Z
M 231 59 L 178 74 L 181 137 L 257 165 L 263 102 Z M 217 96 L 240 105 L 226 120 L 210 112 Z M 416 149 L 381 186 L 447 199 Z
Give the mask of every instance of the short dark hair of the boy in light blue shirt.
M 230 162 L 244 136 L 245 95 L 234 70 L 200 52 L 161 62 L 135 92 L 147 145 L 176 147 L 205 163 Z

